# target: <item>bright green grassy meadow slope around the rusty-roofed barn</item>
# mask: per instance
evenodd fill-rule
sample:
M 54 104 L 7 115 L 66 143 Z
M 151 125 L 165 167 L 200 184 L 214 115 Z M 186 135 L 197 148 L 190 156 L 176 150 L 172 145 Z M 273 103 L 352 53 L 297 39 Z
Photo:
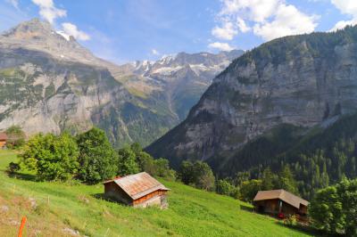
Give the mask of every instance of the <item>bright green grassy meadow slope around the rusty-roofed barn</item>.
M 103 185 L 37 183 L 30 174 L 6 176 L 16 159 L 0 151 L 0 236 L 16 236 L 28 217 L 24 236 L 308 236 L 276 219 L 254 214 L 243 202 L 164 182 L 170 187 L 166 210 L 134 209 L 101 200 Z

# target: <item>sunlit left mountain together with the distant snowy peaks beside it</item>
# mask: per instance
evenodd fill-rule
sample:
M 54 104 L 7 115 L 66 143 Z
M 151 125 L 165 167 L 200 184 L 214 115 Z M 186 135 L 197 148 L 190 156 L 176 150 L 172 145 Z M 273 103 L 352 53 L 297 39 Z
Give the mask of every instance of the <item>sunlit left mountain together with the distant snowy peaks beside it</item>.
M 117 146 L 146 145 L 186 118 L 214 75 L 240 54 L 179 53 L 118 66 L 49 23 L 29 20 L 0 36 L 0 130 L 20 125 L 27 135 L 58 134 L 98 126 Z

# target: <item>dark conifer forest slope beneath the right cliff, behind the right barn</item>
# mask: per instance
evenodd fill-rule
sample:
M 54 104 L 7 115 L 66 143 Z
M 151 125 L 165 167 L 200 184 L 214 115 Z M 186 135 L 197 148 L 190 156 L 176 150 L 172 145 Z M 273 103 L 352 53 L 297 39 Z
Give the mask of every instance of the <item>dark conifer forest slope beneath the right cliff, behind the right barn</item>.
M 290 168 L 300 194 L 310 199 L 314 192 L 344 177 L 357 177 L 357 113 L 336 122 L 306 130 L 282 125 L 245 145 L 220 176 L 233 180 L 260 179 L 270 168 L 277 173 Z M 237 173 L 233 173 L 238 170 Z M 236 182 L 237 183 L 237 182 Z

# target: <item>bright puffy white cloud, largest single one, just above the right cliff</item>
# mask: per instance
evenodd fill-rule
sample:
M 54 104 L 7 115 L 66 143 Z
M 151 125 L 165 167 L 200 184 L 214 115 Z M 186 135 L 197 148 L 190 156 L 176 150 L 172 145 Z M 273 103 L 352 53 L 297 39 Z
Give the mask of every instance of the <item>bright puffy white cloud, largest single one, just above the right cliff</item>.
M 311 33 L 317 26 L 316 17 L 299 12 L 294 5 L 280 4 L 274 19 L 254 25 L 255 35 L 265 40 L 277 37 Z

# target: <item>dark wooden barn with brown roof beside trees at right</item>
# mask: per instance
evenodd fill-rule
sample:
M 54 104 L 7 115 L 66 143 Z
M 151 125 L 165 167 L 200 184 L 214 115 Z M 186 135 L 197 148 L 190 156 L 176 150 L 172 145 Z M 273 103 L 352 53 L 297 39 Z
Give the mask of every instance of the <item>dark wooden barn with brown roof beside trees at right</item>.
M 254 208 L 261 213 L 269 213 L 279 217 L 292 215 L 306 216 L 309 201 L 295 196 L 283 189 L 259 191 L 253 200 Z

